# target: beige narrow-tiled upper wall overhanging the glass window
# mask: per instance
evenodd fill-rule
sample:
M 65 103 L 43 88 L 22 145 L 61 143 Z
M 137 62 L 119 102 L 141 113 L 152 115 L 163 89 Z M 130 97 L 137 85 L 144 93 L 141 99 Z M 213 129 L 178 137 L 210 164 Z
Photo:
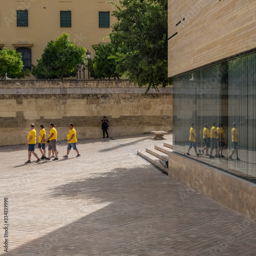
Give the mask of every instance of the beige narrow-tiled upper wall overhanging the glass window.
M 256 48 L 255 10 L 254 0 L 169 0 L 168 76 Z

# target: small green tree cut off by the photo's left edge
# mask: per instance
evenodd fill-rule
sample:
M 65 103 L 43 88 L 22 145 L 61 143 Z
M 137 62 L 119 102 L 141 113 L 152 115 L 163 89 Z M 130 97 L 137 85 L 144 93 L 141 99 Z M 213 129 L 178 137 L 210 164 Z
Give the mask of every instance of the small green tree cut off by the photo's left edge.
M 5 77 L 6 73 L 9 78 L 29 76 L 30 71 L 23 70 L 22 54 L 16 50 L 0 51 L 0 75 Z

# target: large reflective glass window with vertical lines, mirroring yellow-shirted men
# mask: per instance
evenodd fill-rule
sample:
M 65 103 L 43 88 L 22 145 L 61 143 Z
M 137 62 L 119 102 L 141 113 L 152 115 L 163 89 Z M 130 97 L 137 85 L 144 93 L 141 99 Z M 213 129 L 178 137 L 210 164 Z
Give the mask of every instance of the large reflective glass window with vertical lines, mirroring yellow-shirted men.
M 174 151 L 255 178 L 255 125 L 256 54 L 174 78 Z

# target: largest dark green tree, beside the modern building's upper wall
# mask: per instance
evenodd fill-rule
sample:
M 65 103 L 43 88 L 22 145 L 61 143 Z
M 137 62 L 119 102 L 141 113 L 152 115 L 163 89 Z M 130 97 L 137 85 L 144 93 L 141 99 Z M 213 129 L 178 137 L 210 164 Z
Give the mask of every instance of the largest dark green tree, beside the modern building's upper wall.
M 157 90 L 172 82 L 167 76 L 167 0 L 120 0 L 113 16 L 111 43 L 129 49 L 117 71 L 131 82 Z

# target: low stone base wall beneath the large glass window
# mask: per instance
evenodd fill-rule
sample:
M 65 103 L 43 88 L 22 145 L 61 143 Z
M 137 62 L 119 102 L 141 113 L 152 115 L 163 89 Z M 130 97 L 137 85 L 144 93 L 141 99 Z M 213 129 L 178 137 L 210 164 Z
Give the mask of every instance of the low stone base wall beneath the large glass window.
M 168 160 L 170 178 L 256 221 L 255 184 L 177 153 L 169 153 Z

